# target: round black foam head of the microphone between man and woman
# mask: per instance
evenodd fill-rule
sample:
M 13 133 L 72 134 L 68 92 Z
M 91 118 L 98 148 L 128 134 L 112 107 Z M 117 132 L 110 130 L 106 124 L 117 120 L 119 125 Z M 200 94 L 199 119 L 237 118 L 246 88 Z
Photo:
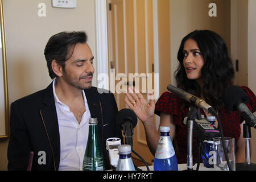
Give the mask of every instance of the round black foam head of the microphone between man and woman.
M 138 118 L 137 115 L 131 109 L 121 109 L 118 111 L 117 116 L 115 117 L 118 126 L 129 120 L 133 124 L 133 128 L 137 125 Z

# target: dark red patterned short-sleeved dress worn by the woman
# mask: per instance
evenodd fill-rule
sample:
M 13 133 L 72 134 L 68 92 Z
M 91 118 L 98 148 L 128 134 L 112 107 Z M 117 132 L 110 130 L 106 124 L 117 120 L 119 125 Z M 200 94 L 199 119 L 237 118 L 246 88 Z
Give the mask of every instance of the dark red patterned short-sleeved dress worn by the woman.
M 256 97 L 255 94 L 246 86 L 241 86 L 245 93 L 249 96 L 249 101 L 247 102 L 247 107 L 254 113 L 256 111 Z M 187 125 L 183 123 L 184 117 L 188 115 L 189 107 L 183 108 L 183 100 L 177 97 L 174 93 L 164 92 L 162 96 L 159 97 L 155 104 L 155 114 L 160 115 L 161 112 L 171 114 L 173 117 L 174 124 L 176 125 L 175 137 L 176 137 L 176 156 L 178 163 L 187 163 L 187 137 L 188 129 Z M 204 111 L 200 109 L 201 114 Z M 218 116 L 221 120 L 222 130 L 224 137 L 233 137 L 237 140 L 240 138 L 241 130 L 240 124 L 243 122 L 243 118 L 239 111 L 228 111 L 224 108 L 218 110 Z M 193 161 L 197 158 L 197 142 L 195 134 L 193 134 Z

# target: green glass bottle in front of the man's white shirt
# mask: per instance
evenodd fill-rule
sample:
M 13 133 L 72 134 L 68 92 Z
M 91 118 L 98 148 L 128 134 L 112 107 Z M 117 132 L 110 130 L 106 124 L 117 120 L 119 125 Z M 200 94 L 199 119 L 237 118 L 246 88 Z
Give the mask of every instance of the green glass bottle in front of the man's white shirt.
M 104 171 L 104 160 L 98 139 L 98 121 L 97 118 L 89 119 L 89 134 L 86 144 L 83 171 Z

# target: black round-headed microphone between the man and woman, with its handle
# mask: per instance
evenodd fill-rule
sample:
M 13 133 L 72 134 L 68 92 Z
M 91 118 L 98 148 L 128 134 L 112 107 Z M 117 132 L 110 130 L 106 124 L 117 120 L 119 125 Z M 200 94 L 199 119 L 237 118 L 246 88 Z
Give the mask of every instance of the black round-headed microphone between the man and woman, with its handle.
M 137 115 L 131 109 L 122 109 L 117 113 L 116 121 L 123 130 L 126 144 L 130 144 L 133 148 L 133 129 L 138 122 Z

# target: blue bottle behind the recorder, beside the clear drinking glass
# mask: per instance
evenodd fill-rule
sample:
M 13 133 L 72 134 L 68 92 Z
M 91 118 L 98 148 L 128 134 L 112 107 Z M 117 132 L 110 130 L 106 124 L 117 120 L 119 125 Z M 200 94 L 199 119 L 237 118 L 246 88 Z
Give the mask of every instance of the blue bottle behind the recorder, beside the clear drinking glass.
M 214 115 L 208 116 L 207 120 L 210 122 L 210 125 L 215 126 L 215 117 Z M 203 143 L 203 150 L 205 152 L 205 155 L 207 156 L 208 160 L 204 157 L 203 154 L 201 154 L 201 157 L 203 159 L 203 164 L 205 167 L 213 168 L 213 154 L 211 154 L 211 151 L 214 151 L 214 144 L 212 140 L 204 140 Z M 212 161 L 212 162 L 211 162 Z M 210 162 L 210 163 L 209 163 Z

